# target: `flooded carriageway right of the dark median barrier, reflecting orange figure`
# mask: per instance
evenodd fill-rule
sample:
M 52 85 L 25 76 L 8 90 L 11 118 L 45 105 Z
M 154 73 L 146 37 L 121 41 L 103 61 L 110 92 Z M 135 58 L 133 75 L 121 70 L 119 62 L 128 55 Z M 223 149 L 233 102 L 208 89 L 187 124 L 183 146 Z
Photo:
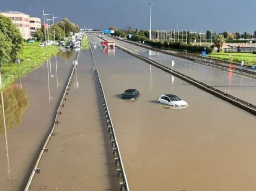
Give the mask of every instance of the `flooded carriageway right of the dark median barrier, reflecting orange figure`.
M 113 41 L 115 39 L 108 38 Z M 115 40 L 117 44 L 126 47 L 133 52 L 152 59 L 161 64 L 171 67 L 171 61 L 174 60 L 174 69 L 195 78 L 203 83 L 213 86 L 221 91 L 226 90 L 227 93 L 243 99 L 249 103 L 256 105 L 256 79 L 242 76 L 230 71 L 213 68 L 192 62 L 186 59 L 170 56 L 164 53 L 148 50 L 133 44 Z

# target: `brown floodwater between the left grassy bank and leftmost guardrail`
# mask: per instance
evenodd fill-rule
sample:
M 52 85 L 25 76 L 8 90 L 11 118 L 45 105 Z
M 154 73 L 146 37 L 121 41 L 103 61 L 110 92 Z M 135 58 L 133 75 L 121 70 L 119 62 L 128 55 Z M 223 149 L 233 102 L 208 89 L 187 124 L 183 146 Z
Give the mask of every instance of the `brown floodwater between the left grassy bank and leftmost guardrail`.
M 3 90 L 6 127 L 0 109 L 0 190 L 22 190 L 71 69 L 75 51 L 53 56 Z M 6 133 L 5 133 L 6 132 Z

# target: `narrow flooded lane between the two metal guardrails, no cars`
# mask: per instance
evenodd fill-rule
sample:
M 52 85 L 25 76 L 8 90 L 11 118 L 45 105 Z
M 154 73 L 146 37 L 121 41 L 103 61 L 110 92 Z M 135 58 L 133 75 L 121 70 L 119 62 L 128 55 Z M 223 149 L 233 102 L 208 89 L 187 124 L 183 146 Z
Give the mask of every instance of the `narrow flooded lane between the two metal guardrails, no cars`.
M 30 190 L 120 190 L 91 53 L 82 51 L 55 135 Z M 99 105 L 98 105 L 99 104 Z

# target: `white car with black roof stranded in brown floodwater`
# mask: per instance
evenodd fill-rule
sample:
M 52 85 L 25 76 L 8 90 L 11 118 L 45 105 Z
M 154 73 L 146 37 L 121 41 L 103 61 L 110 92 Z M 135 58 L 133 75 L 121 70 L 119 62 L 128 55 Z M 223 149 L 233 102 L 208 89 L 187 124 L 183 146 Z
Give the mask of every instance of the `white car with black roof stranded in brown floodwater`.
M 162 94 L 157 101 L 174 107 L 185 107 L 188 105 L 187 102 L 173 94 Z

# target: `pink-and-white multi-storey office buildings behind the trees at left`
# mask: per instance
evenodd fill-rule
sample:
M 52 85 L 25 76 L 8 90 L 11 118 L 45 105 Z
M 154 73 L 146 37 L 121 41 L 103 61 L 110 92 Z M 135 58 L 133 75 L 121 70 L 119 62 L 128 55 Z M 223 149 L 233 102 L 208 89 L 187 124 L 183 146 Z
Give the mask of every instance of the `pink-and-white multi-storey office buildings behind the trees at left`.
M 22 37 L 25 39 L 32 38 L 36 29 L 41 27 L 40 18 L 30 17 L 18 11 L 0 11 L 0 14 L 11 19 L 12 23 L 17 26 Z

